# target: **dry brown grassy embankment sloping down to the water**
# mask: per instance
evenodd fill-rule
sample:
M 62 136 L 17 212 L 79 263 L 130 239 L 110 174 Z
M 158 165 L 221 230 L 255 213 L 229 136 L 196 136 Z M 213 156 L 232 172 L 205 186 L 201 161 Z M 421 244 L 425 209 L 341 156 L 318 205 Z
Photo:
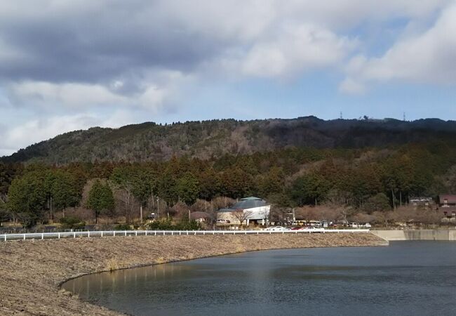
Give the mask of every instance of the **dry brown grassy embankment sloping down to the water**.
M 370 233 L 45 239 L 0 244 L 1 315 L 122 315 L 80 300 L 62 284 L 90 273 L 248 251 L 382 246 Z

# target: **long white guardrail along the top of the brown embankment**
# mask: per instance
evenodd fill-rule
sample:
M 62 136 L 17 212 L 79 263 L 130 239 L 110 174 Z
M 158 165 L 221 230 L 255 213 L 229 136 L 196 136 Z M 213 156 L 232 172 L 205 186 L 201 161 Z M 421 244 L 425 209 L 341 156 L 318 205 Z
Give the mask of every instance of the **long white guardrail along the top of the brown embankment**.
M 276 234 L 311 234 L 331 232 L 369 232 L 369 230 L 98 230 L 93 232 L 29 232 L 25 234 L 2 234 L 0 241 L 25 239 L 60 239 L 76 237 L 108 236 L 172 236 L 172 235 L 276 235 Z

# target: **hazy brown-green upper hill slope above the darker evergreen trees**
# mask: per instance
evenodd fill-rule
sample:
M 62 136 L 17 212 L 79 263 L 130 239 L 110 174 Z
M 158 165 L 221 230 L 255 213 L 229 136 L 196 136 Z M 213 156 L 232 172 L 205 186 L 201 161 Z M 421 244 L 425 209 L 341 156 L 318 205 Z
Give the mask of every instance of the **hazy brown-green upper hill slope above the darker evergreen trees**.
M 119 129 L 72 131 L 19 150 L 3 162 L 126 161 L 170 159 L 173 155 L 208 159 L 284 147 L 361 148 L 405 143 L 456 143 L 456 121 L 420 119 L 335 119 L 316 117 L 185 123 L 146 122 Z

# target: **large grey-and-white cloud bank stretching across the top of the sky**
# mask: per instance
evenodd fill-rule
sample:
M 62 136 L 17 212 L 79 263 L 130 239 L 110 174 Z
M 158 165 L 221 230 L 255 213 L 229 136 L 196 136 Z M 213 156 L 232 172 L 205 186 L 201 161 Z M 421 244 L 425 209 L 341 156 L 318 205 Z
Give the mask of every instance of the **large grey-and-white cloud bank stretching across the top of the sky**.
M 255 74 L 271 60 L 278 62 L 277 69 L 267 74 L 283 76 L 289 58 L 304 64 L 304 71 L 320 67 L 322 60 L 333 58 L 328 56 L 333 49 L 340 53 L 347 39 L 343 32 L 363 22 L 380 26 L 396 18 L 428 18 L 449 2 L 195 0 L 189 6 L 183 0 L 7 1 L 0 7 L 0 41 L 8 39 L 4 44 L 11 51 L 27 51 L 29 60 L 21 63 L 18 56 L 13 65 L 29 71 L 2 69 L 0 56 L 0 76 L 88 82 L 157 67 L 194 72 L 210 60 L 221 62 L 231 51 L 248 51 L 246 72 L 240 75 Z M 95 19 L 97 27 L 90 27 Z M 308 38 L 311 33 L 318 37 Z M 291 46 L 286 50 L 283 45 Z M 306 52 L 316 55 L 309 58 Z

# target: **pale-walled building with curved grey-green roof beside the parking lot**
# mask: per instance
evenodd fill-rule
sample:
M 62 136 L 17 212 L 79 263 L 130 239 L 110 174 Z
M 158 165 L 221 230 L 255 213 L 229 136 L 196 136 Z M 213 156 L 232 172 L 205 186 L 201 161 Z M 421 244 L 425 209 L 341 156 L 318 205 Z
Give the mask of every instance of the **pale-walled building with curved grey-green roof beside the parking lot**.
M 271 205 L 259 197 L 244 197 L 232 207 L 217 211 L 217 225 L 266 225 Z

